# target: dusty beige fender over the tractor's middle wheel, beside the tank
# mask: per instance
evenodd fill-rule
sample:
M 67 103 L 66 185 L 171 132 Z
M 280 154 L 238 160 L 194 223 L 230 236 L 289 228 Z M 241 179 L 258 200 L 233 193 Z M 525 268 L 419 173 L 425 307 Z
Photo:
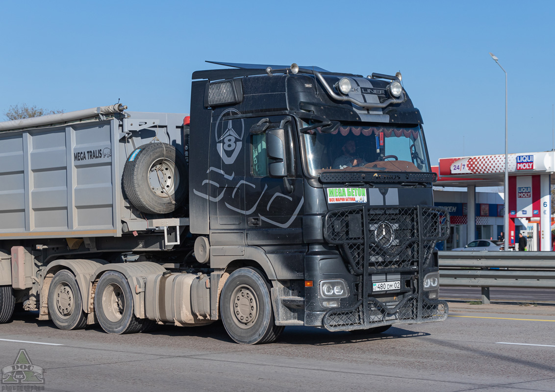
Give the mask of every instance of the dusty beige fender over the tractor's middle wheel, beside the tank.
M 166 271 L 166 269 L 160 266 L 160 264 L 148 261 L 141 261 L 137 263 L 105 264 L 98 267 L 90 277 L 91 288 L 94 281 L 99 279 L 100 276 L 102 276 L 102 274 L 106 271 L 116 271 L 122 273 L 125 278 L 127 278 L 127 282 L 129 283 L 129 287 L 131 288 L 131 293 L 133 295 L 133 308 L 135 316 L 138 318 L 147 318 L 144 310 L 144 289 L 147 277 L 152 274 L 162 273 Z M 137 289 L 135 289 L 135 286 L 137 286 Z

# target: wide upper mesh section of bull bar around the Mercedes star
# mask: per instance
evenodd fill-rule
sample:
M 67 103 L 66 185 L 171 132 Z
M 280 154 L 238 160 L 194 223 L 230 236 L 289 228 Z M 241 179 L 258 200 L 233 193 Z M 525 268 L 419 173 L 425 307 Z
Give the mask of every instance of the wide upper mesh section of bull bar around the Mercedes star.
M 437 207 L 348 207 L 326 214 L 324 238 L 340 247 L 356 274 L 365 260 L 369 273 L 413 271 L 448 236 L 447 222 L 446 210 Z

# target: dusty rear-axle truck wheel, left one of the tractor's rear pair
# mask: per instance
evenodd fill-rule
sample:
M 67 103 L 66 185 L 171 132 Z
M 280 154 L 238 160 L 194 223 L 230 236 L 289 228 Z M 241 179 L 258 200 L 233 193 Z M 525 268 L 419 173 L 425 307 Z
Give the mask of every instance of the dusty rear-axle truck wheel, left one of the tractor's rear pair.
M 87 325 L 77 280 L 65 269 L 58 271 L 50 283 L 48 313 L 59 329 L 82 329 Z

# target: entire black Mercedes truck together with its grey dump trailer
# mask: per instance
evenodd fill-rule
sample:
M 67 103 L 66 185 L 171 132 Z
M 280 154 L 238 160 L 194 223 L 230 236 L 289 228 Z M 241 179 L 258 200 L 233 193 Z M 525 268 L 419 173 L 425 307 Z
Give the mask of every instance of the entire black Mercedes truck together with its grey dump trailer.
M 0 323 L 222 320 L 379 333 L 444 320 L 422 117 L 401 75 L 230 64 L 190 114 L 115 104 L 0 123 Z

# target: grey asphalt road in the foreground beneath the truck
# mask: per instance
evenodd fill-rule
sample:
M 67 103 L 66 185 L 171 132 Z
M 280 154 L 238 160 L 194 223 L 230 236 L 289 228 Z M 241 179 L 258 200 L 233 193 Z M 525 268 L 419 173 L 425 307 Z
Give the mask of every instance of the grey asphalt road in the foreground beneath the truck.
M 25 349 L 48 391 L 555 391 L 555 307 L 450 307 L 442 323 L 366 336 L 289 327 L 257 346 L 220 323 L 109 335 L 17 313 L 0 325 L 0 368 Z

